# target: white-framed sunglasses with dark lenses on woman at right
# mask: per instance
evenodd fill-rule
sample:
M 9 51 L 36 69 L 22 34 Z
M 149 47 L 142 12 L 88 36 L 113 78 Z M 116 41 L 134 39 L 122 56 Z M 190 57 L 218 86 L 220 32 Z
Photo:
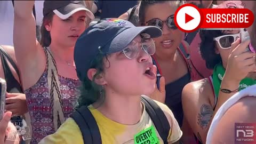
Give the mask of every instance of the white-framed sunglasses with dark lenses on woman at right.
M 213 38 L 213 41 L 217 41 L 221 49 L 230 49 L 231 44 L 234 43 L 236 39 L 239 37 L 240 37 L 240 33 L 229 34 L 229 35 L 215 37 Z

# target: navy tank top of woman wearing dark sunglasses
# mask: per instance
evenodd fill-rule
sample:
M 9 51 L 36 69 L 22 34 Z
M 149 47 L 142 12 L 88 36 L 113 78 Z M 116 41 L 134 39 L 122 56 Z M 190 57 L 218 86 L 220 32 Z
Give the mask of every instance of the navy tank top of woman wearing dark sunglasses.
M 166 97 L 165 97 L 165 104 L 172 110 L 175 119 L 177 119 L 177 122 L 179 123 L 179 126 L 182 126 L 183 122 L 183 109 L 182 109 L 182 103 L 181 103 L 181 93 L 183 90 L 183 87 L 188 84 L 191 79 L 190 76 L 190 66 L 188 63 L 188 59 L 185 57 L 185 54 L 181 51 L 180 47 L 178 47 L 179 53 L 182 55 L 182 58 L 186 61 L 187 67 L 188 67 L 188 73 L 179 79 L 177 81 L 174 81 L 172 83 L 166 84 L 165 85 L 165 92 L 166 92 Z M 157 87 L 159 89 L 159 79 L 162 76 L 162 71 L 160 66 L 158 65 L 158 62 L 156 58 L 153 57 L 153 64 L 156 65 L 157 67 Z

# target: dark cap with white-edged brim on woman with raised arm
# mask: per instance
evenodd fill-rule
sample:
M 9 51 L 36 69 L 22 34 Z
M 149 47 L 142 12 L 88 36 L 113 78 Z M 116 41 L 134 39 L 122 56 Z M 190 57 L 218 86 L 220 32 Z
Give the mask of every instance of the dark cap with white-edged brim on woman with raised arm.
M 54 12 L 59 18 L 65 20 L 78 11 L 86 11 L 86 15 L 94 20 L 93 13 L 86 8 L 83 1 L 44 1 L 44 17 Z

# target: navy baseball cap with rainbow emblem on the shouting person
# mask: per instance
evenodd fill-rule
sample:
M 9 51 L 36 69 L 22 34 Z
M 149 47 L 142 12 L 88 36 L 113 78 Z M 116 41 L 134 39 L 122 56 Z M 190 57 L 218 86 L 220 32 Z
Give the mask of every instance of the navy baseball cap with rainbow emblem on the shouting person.
M 85 80 L 92 61 L 100 52 L 110 54 L 122 51 L 141 33 L 155 38 L 162 35 L 162 30 L 155 26 L 135 27 L 129 21 L 117 18 L 102 19 L 87 28 L 75 44 L 74 61 L 78 78 Z

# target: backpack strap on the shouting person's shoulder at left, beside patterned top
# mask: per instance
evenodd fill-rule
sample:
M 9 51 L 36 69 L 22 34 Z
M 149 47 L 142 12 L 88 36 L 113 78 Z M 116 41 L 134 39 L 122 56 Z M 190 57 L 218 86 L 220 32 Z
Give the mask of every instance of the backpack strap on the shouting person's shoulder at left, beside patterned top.
M 70 115 L 70 117 L 73 118 L 76 124 L 79 126 L 83 135 L 84 143 L 102 143 L 97 122 L 95 121 L 91 111 L 86 106 L 78 108 L 73 114 Z

